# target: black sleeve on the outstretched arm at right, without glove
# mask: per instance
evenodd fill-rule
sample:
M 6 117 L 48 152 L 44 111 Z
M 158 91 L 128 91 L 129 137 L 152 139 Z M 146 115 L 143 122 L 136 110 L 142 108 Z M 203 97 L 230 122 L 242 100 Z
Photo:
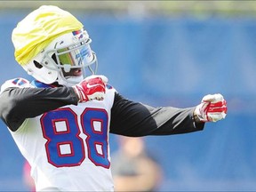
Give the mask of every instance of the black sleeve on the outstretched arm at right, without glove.
M 139 137 L 201 131 L 204 129 L 204 123 L 195 123 L 194 109 L 153 108 L 140 102 L 124 99 L 116 93 L 111 109 L 110 132 Z

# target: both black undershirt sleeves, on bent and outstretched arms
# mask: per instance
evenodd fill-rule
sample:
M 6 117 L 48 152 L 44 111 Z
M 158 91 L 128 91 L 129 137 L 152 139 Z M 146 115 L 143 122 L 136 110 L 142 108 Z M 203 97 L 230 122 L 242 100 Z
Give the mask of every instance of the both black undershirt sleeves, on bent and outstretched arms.
M 77 105 L 72 87 L 7 88 L 0 95 L 0 117 L 15 132 L 26 118 L 40 116 L 66 105 Z M 195 124 L 195 108 L 153 108 L 124 99 L 116 92 L 111 108 L 110 132 L 139 137 L 196 132 L 204 123 Z

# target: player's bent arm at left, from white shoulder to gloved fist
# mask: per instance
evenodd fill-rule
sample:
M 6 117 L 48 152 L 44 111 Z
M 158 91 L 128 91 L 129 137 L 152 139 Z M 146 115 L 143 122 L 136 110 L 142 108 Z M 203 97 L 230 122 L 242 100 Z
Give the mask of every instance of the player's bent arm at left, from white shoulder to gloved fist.
M 87 76 L 72 87 L 35 88 L 26 79 L 11 79 L 1 87 L 0 117 L 15 132 L 26 118 L 78 102 L 103 100 L 107 82 L 106 76 Z

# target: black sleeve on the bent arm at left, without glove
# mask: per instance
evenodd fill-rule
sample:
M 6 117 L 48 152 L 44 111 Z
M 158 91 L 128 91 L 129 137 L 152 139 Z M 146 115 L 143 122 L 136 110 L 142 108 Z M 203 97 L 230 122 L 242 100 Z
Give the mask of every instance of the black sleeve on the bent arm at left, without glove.
M 32 88 L 9 86 L 0 94 L 0 117 L 14 132 L 26 118 L 35 117 L 65 105 L 77 105 L 72 87 Z

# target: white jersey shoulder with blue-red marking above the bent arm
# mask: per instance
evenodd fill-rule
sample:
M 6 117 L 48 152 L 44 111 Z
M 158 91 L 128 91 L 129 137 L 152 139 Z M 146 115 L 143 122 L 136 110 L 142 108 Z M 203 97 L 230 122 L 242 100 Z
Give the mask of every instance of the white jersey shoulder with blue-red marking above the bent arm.
M 29 83 L 27 79 L 22 77 L 17 77 L 17 78 L 13 78 L 5 81 L 4 84 L 2 84 L 1 86 L 0 92 L 4 92 L 4 90 L 9 87 L 24 88 L 24 87 L 32 87 L 32 85 Z

